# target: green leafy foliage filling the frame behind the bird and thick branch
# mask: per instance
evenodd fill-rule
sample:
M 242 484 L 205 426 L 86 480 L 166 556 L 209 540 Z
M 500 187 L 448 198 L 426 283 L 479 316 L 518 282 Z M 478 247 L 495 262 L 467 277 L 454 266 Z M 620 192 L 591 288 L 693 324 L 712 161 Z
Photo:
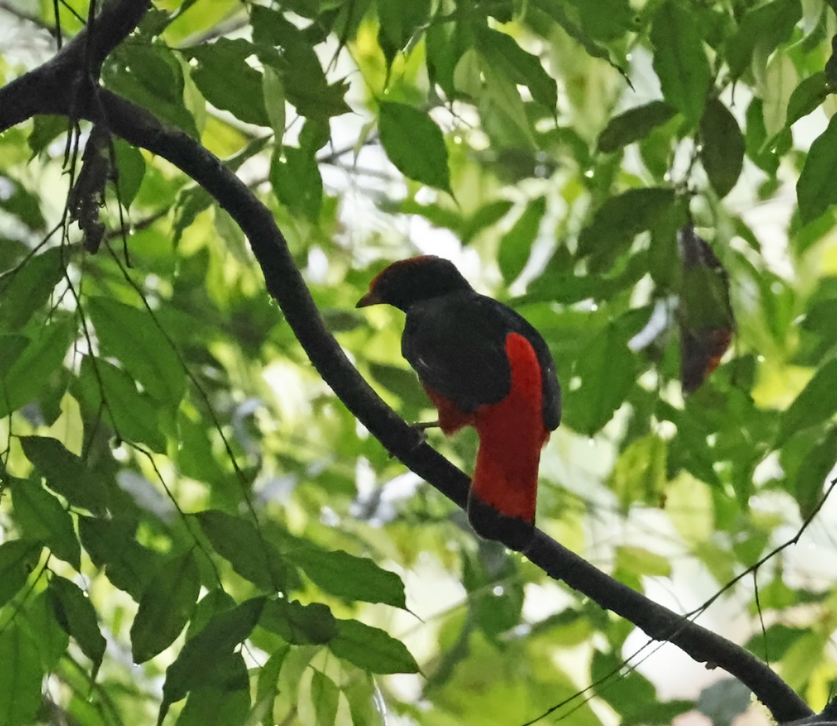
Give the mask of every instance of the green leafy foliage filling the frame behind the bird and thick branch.
M 0 5 L 6 82 L 54 53 L 55 7 Z M 66 41 L 88 6 L 57 7 Z M 102 82 L 270 207 L 408 421 L 433 412 L 403 320 L 354 309 L 385 263 L 452 258 L 525 315 L 566 396 L 539 524 L 686 612 L 793 536 L 837 459 L 834 11 L 157 0 Z M 388 458 L 168 163 L 114 140 L 92 253 L 65 223 L 67 146 L 62 118 L 0 136 L 0 724 L 508 726 L 591 683 L 543 723 L 747 710 Z M 728 304 L 681 261 L 690 219 Z M 732 347 L 683 396 L 701 320 Z M 473 432 L 429 436 L 470 470 Z M 812 708 L 837 684 L 835 520 L 701 617 Z

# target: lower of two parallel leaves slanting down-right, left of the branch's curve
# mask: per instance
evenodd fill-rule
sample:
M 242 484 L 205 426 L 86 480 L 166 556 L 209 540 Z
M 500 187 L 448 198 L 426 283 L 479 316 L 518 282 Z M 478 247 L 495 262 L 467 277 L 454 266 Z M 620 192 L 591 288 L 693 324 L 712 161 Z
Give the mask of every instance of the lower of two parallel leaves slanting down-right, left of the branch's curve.
M 126 371 L 103 358 L 85 355 L 74 394 L 91 416 L 104 412 L 123 441 L 145 443 L 160 453 L 166 451 L 157 406 L 136 390 L 134 379 Z

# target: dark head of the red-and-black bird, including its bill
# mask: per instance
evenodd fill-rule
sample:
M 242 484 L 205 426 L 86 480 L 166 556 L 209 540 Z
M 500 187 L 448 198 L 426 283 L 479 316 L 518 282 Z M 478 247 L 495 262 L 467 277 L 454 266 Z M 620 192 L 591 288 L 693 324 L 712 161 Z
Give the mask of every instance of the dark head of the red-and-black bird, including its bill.
M 358 308 L 385 303 L 407 312 L 410 305 L 460 290 L 470 290 L 454 263 L 425 254 L 403 259 L 383 268 L 369 284 Z

